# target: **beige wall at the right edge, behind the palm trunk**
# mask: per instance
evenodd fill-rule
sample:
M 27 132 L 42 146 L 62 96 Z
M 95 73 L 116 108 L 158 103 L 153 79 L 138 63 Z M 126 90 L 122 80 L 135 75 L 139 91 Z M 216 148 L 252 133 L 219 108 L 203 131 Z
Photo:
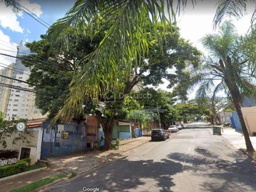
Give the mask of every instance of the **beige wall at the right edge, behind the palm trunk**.
M 242 107 L 241 110 L 242 110 L 246 128 L 249 134 L 256 135 L 256 123 L 255 123 L 256 106 Z

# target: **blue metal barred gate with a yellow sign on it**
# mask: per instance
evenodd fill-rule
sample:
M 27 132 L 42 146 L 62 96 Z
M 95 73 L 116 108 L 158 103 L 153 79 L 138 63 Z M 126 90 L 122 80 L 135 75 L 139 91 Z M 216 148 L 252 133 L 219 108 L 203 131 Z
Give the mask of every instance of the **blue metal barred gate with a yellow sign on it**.
M 86 150 L 87 127 L 78 124 L 42 123 L 41 158 L 62 156 Z

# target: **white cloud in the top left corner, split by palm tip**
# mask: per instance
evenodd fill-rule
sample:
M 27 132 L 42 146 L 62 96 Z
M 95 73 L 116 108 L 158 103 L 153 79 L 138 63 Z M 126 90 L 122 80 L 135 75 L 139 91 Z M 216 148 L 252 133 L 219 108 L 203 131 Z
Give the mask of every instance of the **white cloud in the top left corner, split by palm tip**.
M 30 3 L 28 0 L 24 0 L 20 3 L 38 17 L 43 13 L 39 4 Z M 20 26 L 20 22 L 18 21 L 18 17 L 22 17 L 23 14 L 24 12 L 14 14 L 11 8 L 6 8 L 5 4 L 0 3 L 0 25 L 3 28 L 9 28 L 12 31 L 23 33 L 24 29 Z

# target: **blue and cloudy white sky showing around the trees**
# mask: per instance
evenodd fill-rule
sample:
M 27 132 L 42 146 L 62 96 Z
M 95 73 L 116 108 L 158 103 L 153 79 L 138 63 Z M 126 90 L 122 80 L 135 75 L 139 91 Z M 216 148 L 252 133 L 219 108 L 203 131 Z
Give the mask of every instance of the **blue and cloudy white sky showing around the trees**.
M 33 12 L 37 17 L 44 20 L 47 24 L 53 24 L 58 18 L 72 8 L 74 0 L 21 0 L 22 6 Z M 200 43 L 200 39 L 206 34 L 216 33 L 213 29 L 213 18 L 216 11 L 216 0 L 196 1 L 192 6 L 188 1 L 186 9 L 177 17 L 178 27 L 180 28 L 181 37 L 189 40 L 194 46 L 207 54 Z M 255 5 L 248 4 L 248 14 L 240 20 L 235 18 L 226 18 L 232 20 L 239 34 L 245 34 L 250 26 L 250 18 Z M 45 23 L 44 23 L 45 24 Z M 45 24 L 47 26 L 47 24 Z M 21 40 L 32 42 L 40 40 L 41 34 L 46 34 L 47 28 L 38 23 L 25 12 L 14 14 L 10 8 L 0 2 L 0 53 L 16 56 L 16 46 Z M 8 51 L 5 51 L 5 50 Z M 15 62 L 15 58 L 0 56 L 0 68 L 2 66 Z M 159 88 L 167 89 L 168 82 L 164 80 Z M 191 92 L 189 98 L 193 98 L 195 92 Z

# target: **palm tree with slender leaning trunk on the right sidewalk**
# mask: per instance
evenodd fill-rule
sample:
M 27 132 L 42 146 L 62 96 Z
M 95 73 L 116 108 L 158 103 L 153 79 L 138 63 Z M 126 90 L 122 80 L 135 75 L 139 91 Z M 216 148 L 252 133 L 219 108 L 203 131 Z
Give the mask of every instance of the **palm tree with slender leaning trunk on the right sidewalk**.
M 255 62 L 250 36 L 238 36 L 234 25 L 226 21 L 220 26 L 218 34 L 209 34 L 202 38 L 203 46 L 210 57 L 202 59 L 202 65 L 192 71 L 190 88 L 199 85 L 196 98 L 203 99 L 225 90 L 230 95 L 242 125 L 242 131 L 248 151 L 254 151 L 241 111 L 241 94 L 254 96 Z

